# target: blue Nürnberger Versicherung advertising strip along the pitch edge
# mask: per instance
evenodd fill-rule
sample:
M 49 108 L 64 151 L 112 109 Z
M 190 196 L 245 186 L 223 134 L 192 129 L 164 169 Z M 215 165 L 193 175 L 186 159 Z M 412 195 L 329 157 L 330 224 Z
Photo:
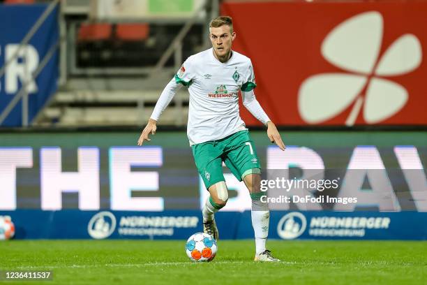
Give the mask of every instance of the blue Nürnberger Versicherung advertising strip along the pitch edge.
M 0 211 L 16 239 L 183 240 L 202 231 L 196 210 Z M 218 212 L 221 240 L 253 238 L 250 211 Z M 271 211 L 269 238 L 278 240 L 427 240 L 426 212 Z M 0 233 L 1 234 L 1 233 Z

